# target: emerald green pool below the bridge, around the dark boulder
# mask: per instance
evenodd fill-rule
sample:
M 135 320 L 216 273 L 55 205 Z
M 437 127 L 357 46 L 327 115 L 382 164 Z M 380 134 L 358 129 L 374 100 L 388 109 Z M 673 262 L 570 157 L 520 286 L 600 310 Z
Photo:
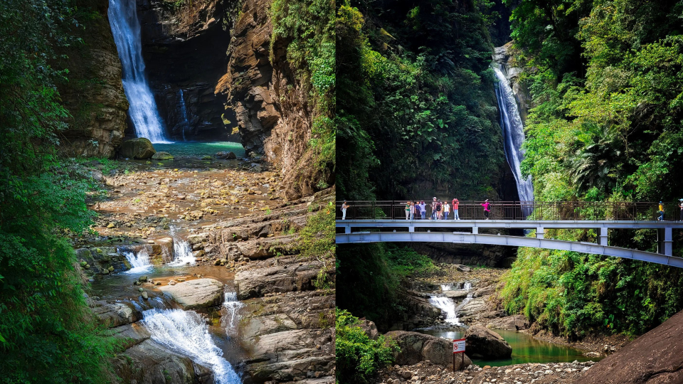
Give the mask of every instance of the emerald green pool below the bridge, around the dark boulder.
M 444 331 L 441 329 L 416 329 L 415 331 L 432 336 L 456 339 L 465 336 L 462 331 Z M 576 348 L 568 346 L 558 346 L 557 344 L 546 341 L 536 340 L 535 338 L 517 331 L 495 330 L 505 341 L 512 346 L 512 358 L 502 360 L 480 360 L 472 359 L 472 363 L 477 366 L 512 366 L 522 363 L 566 363 L 571 361 L 598 361 L 600 358 L 589 358 L 583 356 L 582 352 Z M 467 352 L 465 352 L 467 353 Z

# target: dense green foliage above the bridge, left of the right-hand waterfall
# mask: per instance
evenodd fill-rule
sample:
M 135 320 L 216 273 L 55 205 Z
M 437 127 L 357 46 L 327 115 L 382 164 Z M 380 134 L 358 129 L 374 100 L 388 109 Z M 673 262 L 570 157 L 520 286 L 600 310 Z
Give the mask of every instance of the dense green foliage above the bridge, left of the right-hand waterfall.
M 339 198 L 496 196 L 505 163 L 489 68 L 491 5 L 338 4 Z

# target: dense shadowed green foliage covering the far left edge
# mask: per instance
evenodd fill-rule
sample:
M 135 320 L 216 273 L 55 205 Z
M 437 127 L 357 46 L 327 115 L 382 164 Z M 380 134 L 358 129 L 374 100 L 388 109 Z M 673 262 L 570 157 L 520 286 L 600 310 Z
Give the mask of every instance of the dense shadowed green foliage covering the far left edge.
M 87 230 L 88 188 L 55 156 L 68 112 L 56 53 L 78 14 L 63 0 L 0 6 L 0 381 L 106 383 L 112 344 L 83 299 L 66 234 Z

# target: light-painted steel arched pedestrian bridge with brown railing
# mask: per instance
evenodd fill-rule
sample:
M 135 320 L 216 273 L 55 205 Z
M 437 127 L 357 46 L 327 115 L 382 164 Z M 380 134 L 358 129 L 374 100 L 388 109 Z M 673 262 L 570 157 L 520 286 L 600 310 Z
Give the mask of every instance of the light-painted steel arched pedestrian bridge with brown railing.
M 354 203 L 356 202 L 349 202 L 348 204 L 353 207 Z M 492 203 L 492 213 L 494 212 L 495 204 L 496 203 Z M 652 207 L 652 204 L 653 203 L 642 203 L 640 208 L 645 206 Z M 672 204 L 673 203 L 667 203 L 668 206 L 672 206 Z M 338 203 L 338 207 L 340 206 L 341 202 Z M 399 208 L 401 208 L 401 206 L 404 207 L 405 204 L 398 204 Z M 509 204 L 506 204 L 506 206 L 508 206 L 507 208 L 511 208 L 509 207 Z M 551 212 L 558 213 L 564 211 L 567 213 L 566 205 L 556 205 L 556 207 L 561 208 L 562 206 L 563 209 L 551 210 Z M 655 207 L 657 207 L 656 204 Z M 539 216 L 538 210 L 531 210 L 532 213 L 524 218 L 523 212 L 526 207 L 517 203 L 517 207 L 512 208 L 517 208 L 519 210 L 517 212 L 519 213 L 518 220 L 495 218 L 493 214 L 492 220 L 482 220 L 480 218 L 468 218 L 465 220 L 406 220 L 405 216 L 403 216 L 403 219 L 396 217 L 386 218 L 386 206 L 379 209 L 377 206 L 373 207 L 372 212 L 376 213 L 378 218 L 349 218 L 349 210 L 347 210 L 347 220 L 339 220 L 341 219 L 341 215 L 338 217 L 336 241 L 337 244 L 364 242 L 452 242 L 455 244 L 534 247 L 623 257 L 626 259 L 654 262 L 657 264 L 683 268 L 683 258 L 673 256 L 673 233 L 674 230 L 683 230 L 683 222 L 659 221 L 652 220 L 652 218 L 650 218 L 650 220 L 633 220 L 633 216 L 639 216 L 637 218 L 647 215 L 652 215 L 650 217 L 655 216 L 655 211 L 650 208 L 637 209 L 637 206 L 619 206 L 615 208 L 612 203 L 607 207 L 609 209 L 603 209 L 605 208 L 603 205 L 600 205 L 599 207 L 580 207 L 582 212 L 586 212 L 586 209 L 588 208 L 588 210 L 591 211 L 590 215 L 593 217 L 599 216 L 599 214 L 596 214 L 598 212 L 602 212 L 603 215 L 606 216 L 617 213 L 617 215 L 612 217 L 612 220 L 591 220 L 588 218 L 583 218 L 583 220 L 544 220 L 541 218 L 534 218 Z M 620 210 L 622 208 L 624 209 Z M 393 207 L 392 204 L 390 209 L 396 208 Z M 482 210 L 481 207 L 480 210 Z M 546 210 L 546 213 L 547 212 L 548 210 Z M 428 214 L 429 213 L 430 212 L 428 212 Z M 462 214 L 460 216 L 462 218 Z M 629 216 L 630 220 L 628 220 Z M 487 232 L 497 232 L 497 230 L 509 229 L 535 230 L 536 236 L 525 237 L 487 234 L 480 233 L 480 228 L 485 229 Z M 598 231 L 598 242 L 573 242 L 545 238 L 546 229 L 595 229 Z M 609 230 L 619 229 L 657 230 L 657 253 L 609 245 Z

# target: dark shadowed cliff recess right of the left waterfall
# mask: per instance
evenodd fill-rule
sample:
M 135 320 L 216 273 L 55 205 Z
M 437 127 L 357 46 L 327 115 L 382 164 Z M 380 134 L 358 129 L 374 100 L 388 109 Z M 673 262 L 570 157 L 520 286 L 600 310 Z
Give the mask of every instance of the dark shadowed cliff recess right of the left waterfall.
M 228 64 L 226 4 L 137 0 L 147 76 L 174 139 L 239 139 L 233 110 L 213 92 Z

